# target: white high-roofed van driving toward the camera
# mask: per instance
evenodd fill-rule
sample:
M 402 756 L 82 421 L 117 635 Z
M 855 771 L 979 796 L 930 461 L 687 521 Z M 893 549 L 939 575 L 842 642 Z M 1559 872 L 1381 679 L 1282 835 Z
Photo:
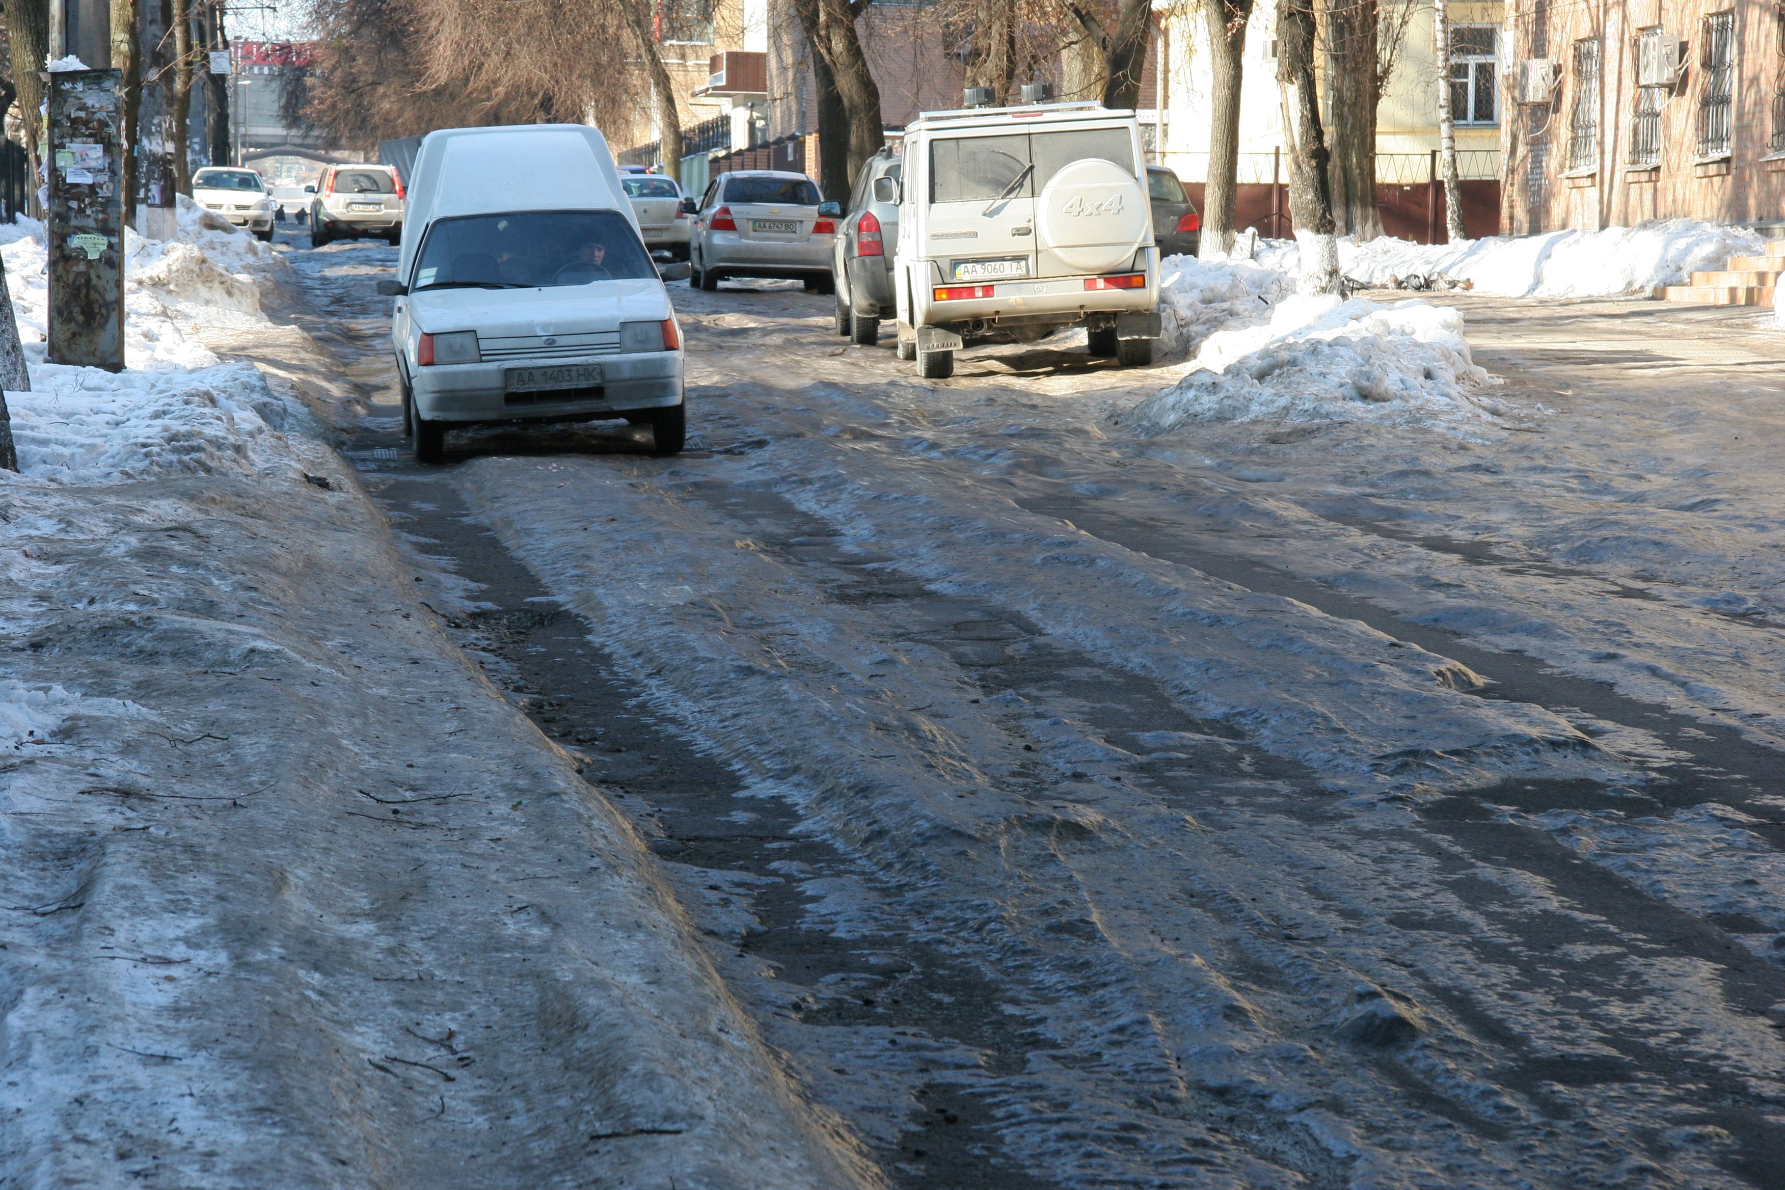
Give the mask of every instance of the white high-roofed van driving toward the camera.
M 598 130 L 430 132 L 378 293 L 418 460 L 452 426 L 512 421 L 625 417 L 682 450 L 682 330 Z

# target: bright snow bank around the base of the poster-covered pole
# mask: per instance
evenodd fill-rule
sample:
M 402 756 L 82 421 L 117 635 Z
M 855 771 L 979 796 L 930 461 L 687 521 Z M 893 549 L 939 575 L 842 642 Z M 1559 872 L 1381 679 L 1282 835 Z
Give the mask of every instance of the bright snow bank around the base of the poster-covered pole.
M 30 393 L 9 393 L 20 473 L 59 483 L 157 475 L 246 475 L 289 467 L 286 428 L 307 410 L 250 364 L 225 364 L 184 328 L 264 325 L 259 277 L 271 248 L 180 198 L 178 237 L 125 232 L 121 373 L 45 362 L 48 278 L 43 223 L 0 227 L 0 259 L 30 364 Z

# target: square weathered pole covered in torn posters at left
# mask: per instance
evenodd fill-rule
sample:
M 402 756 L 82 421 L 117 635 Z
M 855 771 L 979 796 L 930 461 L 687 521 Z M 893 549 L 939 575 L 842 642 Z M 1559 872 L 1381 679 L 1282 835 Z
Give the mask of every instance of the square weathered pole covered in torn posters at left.
M 123 73 L 48 75 L 52 364 L 123 371 Z

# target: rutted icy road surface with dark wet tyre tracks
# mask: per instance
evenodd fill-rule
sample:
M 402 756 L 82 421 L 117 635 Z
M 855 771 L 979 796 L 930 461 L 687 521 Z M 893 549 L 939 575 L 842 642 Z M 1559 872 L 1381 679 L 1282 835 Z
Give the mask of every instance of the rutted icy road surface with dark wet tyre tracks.
M 1756 318 L 1474 302 L 1478 432 L 1141 437 L 1182 368 L 678 285 L 687 455 L 421 469 L 393 259 L 293 253 L 366 485 L 889 1183 L 1785 1185 Z

